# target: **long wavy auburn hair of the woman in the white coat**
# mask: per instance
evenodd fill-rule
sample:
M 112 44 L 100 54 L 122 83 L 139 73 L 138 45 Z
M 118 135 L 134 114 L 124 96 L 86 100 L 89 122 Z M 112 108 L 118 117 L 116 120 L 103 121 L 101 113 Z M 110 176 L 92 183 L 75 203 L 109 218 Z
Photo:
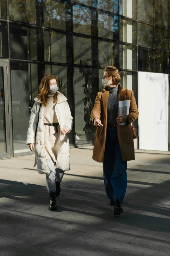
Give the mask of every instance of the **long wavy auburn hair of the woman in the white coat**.
M 50 87 L 50 80 L 51 79 L 56 79 L 56 77 L 54 75 L 45 75 L 41 82 L 40 82 L 40 85 L 38 87 L 39 89 L 39 94 L 36 96 L 39 101 L 46 107 L 47 104 L 48 104 L 48 93 L 49 93 L 49 87 Z M 58 92 L 56 92 L 54 94 L 54 100 L 53 102 L 57 102 L 57 94 Z

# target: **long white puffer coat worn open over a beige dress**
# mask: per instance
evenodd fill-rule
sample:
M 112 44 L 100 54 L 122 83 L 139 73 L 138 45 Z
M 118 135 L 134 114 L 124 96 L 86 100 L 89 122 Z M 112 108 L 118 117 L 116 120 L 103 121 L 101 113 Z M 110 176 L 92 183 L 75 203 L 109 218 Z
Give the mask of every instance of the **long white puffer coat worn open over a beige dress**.
M 35 100 L 35 103 L 31 110 L 26 143 L 27 144 L 35 143 L 35 165 L 37 163 L 38 173 L 49 174 L 50 170 L 47 165 L 47 159 L 45 156 L 45 145 L 44 145 L 43 121 L 44 121 L 45 107 L 41 105 L 40 113 L 39 113 L 40 102 L 38 102 L 38 98 L 35 98 L 34 100 Z M 57 96 L 57 104 L 55 105 L 55 112 L 60 125 L 60 129 L 63 129 L 64 127 L 66 127 L 67 133 L 69 133 L 72 129 L 73 117 L 71 116 L 67 98 L 61 93 L 58 93 L 58 96 Z M 38 113 L 39 113 L 39 122 L 38 122 L 36 141 L 35 141 L 35 130 L 36 130 L 36 123 L 38 120 Z M 69 158 L 70 158 L 70 146 L 68 141 L 68 135 L 67 134 L 64 135 L 60 131 L 60 143 L 59 143 L 58 156 L 57 156 L 55 168 L 59 168 L 63 171 L 70 170 Z

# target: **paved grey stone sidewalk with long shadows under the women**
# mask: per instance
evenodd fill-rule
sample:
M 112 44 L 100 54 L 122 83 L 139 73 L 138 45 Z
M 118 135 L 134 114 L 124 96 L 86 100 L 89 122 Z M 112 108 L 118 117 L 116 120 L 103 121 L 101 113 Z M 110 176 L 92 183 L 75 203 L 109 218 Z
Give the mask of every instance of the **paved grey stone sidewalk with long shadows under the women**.
M 34 155 L 0 161 L 0 256 L 170 256 L 170 155 L 135 155 L 120 216 L 92 146 L 71 149 L 57 211 Z

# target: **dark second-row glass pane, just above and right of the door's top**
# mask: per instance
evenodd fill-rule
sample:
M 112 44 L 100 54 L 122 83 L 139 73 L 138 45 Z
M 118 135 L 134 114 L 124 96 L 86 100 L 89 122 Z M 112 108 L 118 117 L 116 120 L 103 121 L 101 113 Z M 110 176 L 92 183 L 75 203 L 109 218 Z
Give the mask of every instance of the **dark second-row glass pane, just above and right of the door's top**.
M 24 60 L 43 60 L 42 30 L 9 25 L 10 57 Z

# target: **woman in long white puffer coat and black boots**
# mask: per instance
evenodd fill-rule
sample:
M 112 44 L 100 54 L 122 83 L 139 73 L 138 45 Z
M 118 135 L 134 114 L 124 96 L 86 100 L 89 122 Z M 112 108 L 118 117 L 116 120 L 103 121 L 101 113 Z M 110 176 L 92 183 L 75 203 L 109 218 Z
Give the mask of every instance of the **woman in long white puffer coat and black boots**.
M 35 151 L 38 173 L 46 174 L 49 210 L 57 210 L 56 196 L 61 191 L 60 183 L 64 171 L 70 170 L 67 133 L 72 129 L 73 117 L 66 97 L 57 90 L 54 75 L 42 78 L 31 110 L 26 142 L 30 150 Z

